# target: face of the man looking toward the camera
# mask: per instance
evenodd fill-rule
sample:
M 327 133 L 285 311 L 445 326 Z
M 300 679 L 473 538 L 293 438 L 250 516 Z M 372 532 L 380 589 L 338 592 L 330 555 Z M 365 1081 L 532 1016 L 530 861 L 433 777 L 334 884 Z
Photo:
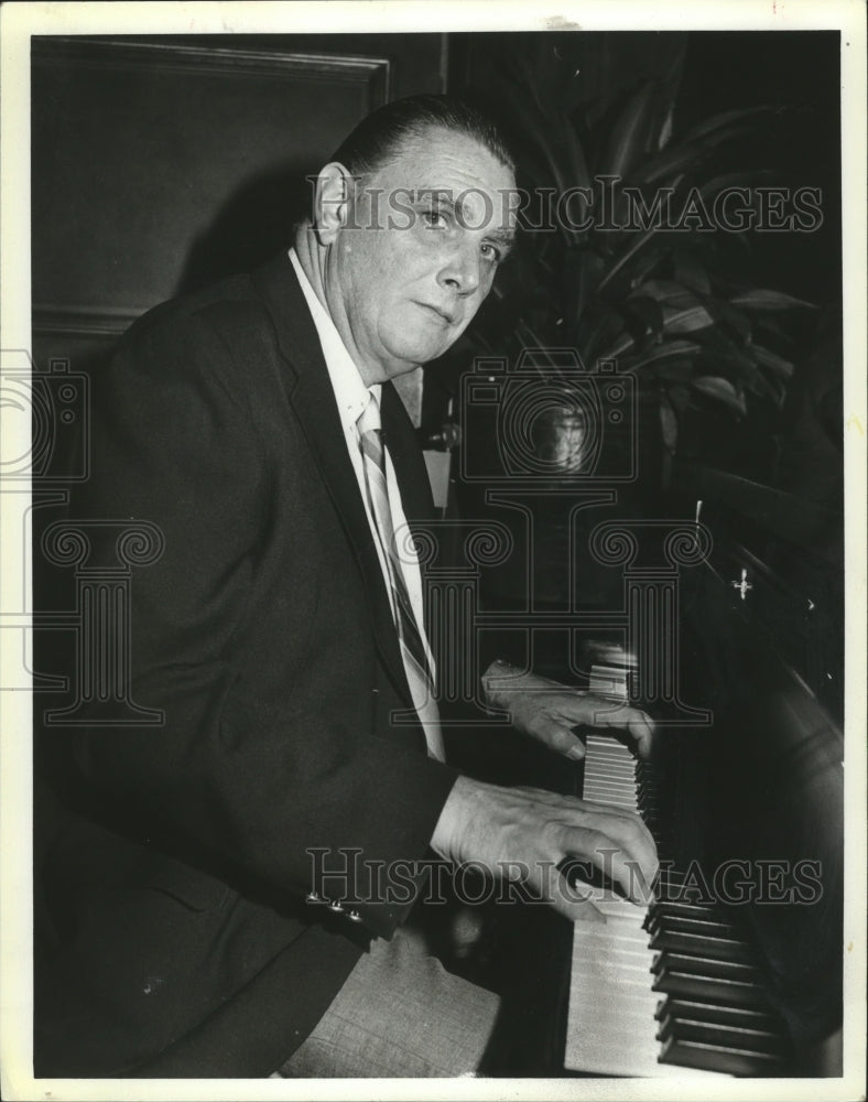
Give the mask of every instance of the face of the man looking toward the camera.
M 367 382 L 434 359 L 464 332 L 509 251 L 514 188 L 484 145 L 443 128 L 356 185 L 324 276 Z

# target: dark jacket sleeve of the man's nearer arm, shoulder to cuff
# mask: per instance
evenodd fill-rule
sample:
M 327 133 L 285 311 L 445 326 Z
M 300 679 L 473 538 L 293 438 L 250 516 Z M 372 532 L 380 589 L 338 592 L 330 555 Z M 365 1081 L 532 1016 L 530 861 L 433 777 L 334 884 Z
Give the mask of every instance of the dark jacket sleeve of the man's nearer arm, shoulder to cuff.
M 378 734 L 367 700 L 355 713 L 341 700 L 365 681 L 351 652 L 334 669 L 340 707 L 294 692 L 312 668 L 303 585 L 299 622 L 272 640 L 287 656 L 285 693 L 258 698 L 254 667 L 267 658 L 251 659 L 243 640 L 256 638 L 275 460 L 214 327 L 161 310 L 133 327 L 95 387 L 91 473 L 72 517 L 106 521 L 88 527 L 97 569 L 115 554 L 112 521 L 161 532 L 159 560 L 133 572 L 129 624 L 112 630 L 130 633 L 132 699 L 163 722 L 104 725 L 95 700 L 53 737 L 120 829 L 278 904 L 304 898 L 318 862 L 333 874 L 330 897 L 390 936 L 412 898 L 405 874 L 383 893 L 383 869 L 424 857 L 456 774 Z M 286 549 L 282 569 L 304 574 L 293 561 L 302 545 Z

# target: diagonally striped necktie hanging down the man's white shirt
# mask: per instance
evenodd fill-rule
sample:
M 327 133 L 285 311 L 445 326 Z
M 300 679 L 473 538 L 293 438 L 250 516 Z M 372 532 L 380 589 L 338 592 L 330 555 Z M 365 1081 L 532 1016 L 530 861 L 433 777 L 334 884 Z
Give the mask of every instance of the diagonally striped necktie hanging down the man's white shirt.
M 442 761 L 444 760 L 443 736 L 440 730 L 437 704 L 434 699 L 434 678 L 422 633 L 410 603 L 410 594 L 395 547 L 392 510 L 389 507 L 389 487 L 386 480 L 386 453 L 382 443 L 380 408 L 373 395 L 370 396 L 368 404 L 358 419 L 357 426 L 368 507 L 386 560 L 391 590 L 392 618 L 398 633 L 410 694 L 425 732 L 428 755 Z

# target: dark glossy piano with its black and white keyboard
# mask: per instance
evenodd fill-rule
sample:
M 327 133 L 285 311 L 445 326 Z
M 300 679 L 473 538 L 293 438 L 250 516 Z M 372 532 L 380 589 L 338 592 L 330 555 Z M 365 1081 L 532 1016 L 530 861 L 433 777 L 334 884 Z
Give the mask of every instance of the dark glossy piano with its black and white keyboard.
M 773 581 L 735 544 L 687 585 L 680 659 L 710 725 L 668 730 L 664 709 L 649 761 L 587 734 L 581 795 L 638 811 L 661 875 L 643 907 L 597 885 L 606 925 L 575 925 L 567 1072 L 840 1074 L 843 735 L 745 602 Z M 623 699 L 617 649 L 589 688 Z

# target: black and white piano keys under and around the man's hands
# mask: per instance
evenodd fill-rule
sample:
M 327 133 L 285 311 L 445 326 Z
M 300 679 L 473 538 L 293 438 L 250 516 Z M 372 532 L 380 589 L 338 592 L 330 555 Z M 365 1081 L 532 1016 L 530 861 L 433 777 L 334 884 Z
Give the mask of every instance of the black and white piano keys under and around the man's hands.
M 587 738 L 583 796 L 630 808 L 655 834 L 653 780 L 617 739 Z M 670 880 L 672 883 L 672 880 Z M 597 906 L 576 922 L 565 1066 L 643 1078 L 774 1074 L 786 1051 L 751 947 L 716 908 L 672 899 Z

